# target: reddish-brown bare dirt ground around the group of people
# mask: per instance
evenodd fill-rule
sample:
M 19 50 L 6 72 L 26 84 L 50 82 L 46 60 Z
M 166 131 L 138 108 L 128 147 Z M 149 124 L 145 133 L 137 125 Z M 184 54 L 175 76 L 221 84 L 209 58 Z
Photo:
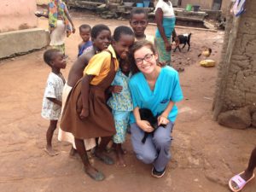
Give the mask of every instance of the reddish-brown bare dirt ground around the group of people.
M 91 13 L 72 15 L 77 29 L 83 23 L 91 26 L 103 23 L 112 31 L 116 26 L 128 25 L 127 20 L 102 20 Z M 47 20 L 38 22 L 39 27 L 47 28 Z M 153 35 L 154 30 L 155 26 L 148 26 L 147 33 Z M 49 122 L 40 115 L 50 71 L 42 58 L 44 50 L 0 61 L 0 191 L 230 191 L 228 180 L 247 166 L 256 130 L 233 130 L 212 120 L 218 67 L 200 67 L 197 55 L 203 45 L 210 46 L 211 58 L 218 62 L 224 32 L 177 28 L 178 34 L 187 32 L 192 32 L 190 51 L 184 49 L 172 54 L 174 67 L 184 67 L 180 73 L 184 99 L 177 104 L 179 115 L 173 131 L 172 160 L 165 177 L 160 179 L 150 175 L 151 166 L 136 159 L 129 135 L 125 143 L 127 167 L 93 161 L 106 175 L 103 182 L 95 182 L 84 174 L 81 161 L 68 155 L 70 145 L 57 141 L 57 131 L 53 145 L 60 154 L 49 157 L 43 150 Z M 69 61 L 63 71 L 66 78 L 76 59 L 79 41 L 79 32 L 67 38 Z M 256 179 L 243 191 L 255 192 Z

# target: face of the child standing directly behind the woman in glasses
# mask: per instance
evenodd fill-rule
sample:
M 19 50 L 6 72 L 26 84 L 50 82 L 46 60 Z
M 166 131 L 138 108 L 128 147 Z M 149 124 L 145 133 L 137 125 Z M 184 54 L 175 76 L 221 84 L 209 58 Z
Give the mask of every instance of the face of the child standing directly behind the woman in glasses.
M 130 25 L 136 37 L 144 36 L 146 27 L 148 26 L 148 19 L 145 14 L 134 14 L 130 20 Z

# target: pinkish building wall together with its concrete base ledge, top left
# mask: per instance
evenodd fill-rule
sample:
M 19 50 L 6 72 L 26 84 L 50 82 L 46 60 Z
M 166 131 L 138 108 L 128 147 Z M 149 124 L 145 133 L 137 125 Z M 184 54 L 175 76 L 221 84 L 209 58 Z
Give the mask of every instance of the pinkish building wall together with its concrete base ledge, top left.
M 0 59 L 42 49 L 49 43 L 49 32 L 37 28 L 36 0 L 1 0 L 0 9 Z

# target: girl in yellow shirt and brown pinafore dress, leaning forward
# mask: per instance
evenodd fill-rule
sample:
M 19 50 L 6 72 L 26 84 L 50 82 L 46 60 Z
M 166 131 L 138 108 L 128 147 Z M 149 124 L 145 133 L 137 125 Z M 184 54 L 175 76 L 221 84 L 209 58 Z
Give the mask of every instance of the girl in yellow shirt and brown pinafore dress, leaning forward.
M 133 42 L 134 33 L 131 28 L 118 26 L 113 32 L 112 45 L 90 59 L 84 69 L 83 79 L 73 87 L 62 113 L 61 129 L 73 133 L 84 171 L 96 181 L 102 181 L 104 175 L 90 165 L 84 139 L 101 137 L 95 156 L 105 164 L 113 164 L 113 160 L 105 154 L 106 145 L 115 134 L 113 116 L 106 103 L 105 91 L 119 68 L 119 59 L 128 56 Z

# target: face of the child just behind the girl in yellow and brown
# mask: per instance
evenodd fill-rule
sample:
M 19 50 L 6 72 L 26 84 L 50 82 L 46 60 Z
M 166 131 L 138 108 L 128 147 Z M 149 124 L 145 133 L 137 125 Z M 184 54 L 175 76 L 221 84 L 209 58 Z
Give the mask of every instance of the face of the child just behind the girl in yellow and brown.
M 107 49 L 108 45 L 111 43 L 111 32 L 102 30 L 102 32 L 98 33 L 96 38 L 92 38 L 92 42 L 98 50 Z

